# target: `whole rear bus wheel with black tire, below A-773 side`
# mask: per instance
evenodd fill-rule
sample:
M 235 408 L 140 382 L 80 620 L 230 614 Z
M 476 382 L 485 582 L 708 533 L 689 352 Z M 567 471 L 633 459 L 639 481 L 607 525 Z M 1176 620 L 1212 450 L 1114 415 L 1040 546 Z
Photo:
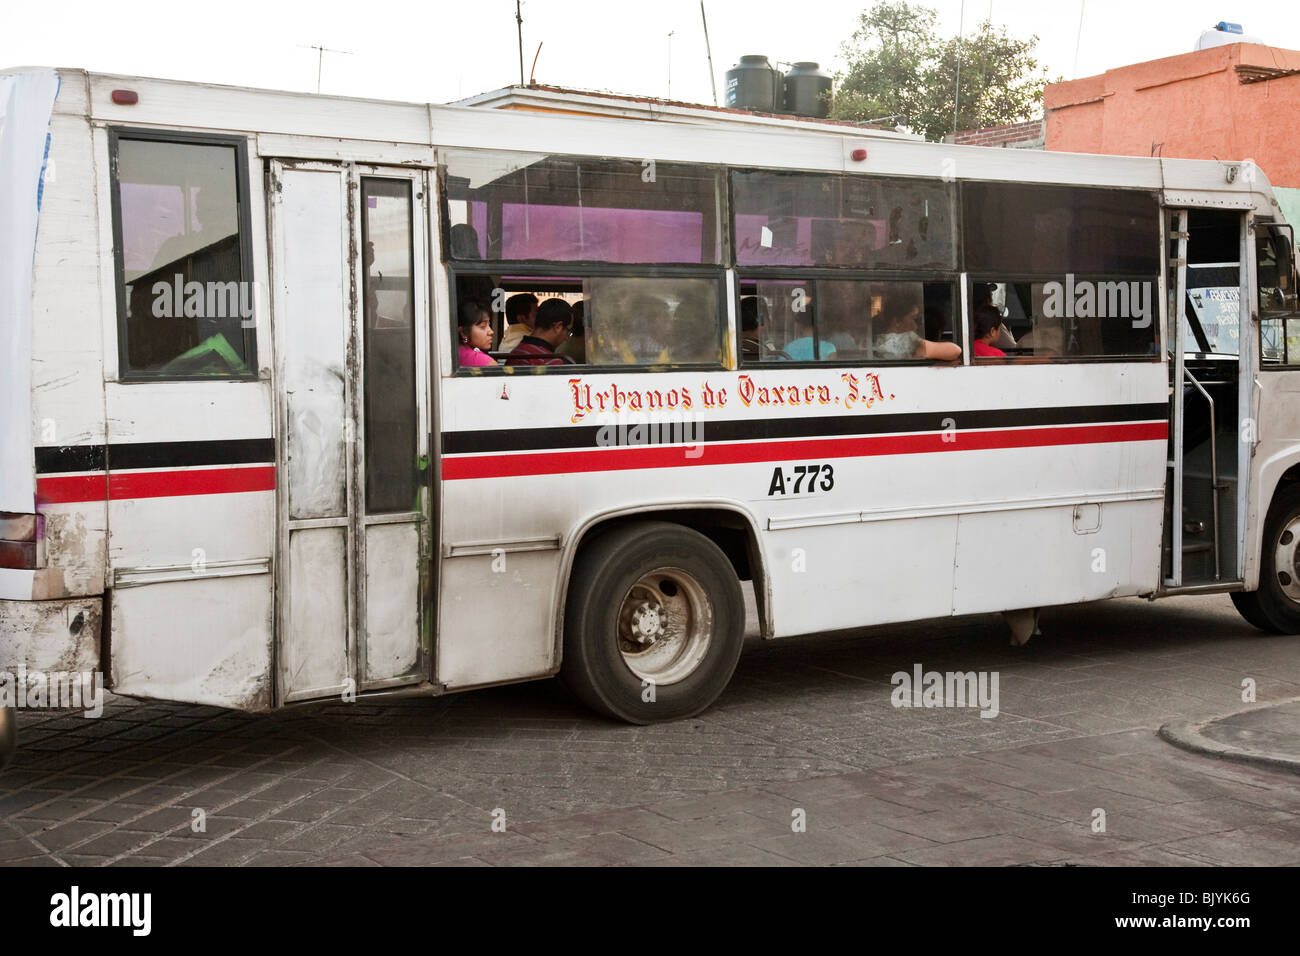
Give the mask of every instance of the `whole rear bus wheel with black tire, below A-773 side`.
M 740 581 L 722 549 L 680 524 L 637 522 L 577 555 L 560 679 L 607 717 L 675 721 L 716 700 L 744 639 Z

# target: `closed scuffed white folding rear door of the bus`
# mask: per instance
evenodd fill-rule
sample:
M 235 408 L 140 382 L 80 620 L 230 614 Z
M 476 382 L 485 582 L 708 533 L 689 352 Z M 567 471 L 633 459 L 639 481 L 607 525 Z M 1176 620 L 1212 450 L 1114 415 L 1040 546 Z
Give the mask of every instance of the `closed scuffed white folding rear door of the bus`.
M 278 394 L 278 700 L 428 680 L 422 170 L 268 169 Z

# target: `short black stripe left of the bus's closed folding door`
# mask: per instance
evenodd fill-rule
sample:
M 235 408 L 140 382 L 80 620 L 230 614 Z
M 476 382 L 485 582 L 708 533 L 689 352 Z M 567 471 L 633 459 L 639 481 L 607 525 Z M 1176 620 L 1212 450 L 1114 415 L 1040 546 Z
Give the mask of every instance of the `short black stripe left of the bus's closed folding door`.
M 42 445 L 36 447 L 36 472 L 57 475 L 72 471 L 130 468 L 185 468 L 202 464 L 260 464 L 276 460 L 273 438 L 226 438 L 220 441 L 139 441 L 113 445 Z

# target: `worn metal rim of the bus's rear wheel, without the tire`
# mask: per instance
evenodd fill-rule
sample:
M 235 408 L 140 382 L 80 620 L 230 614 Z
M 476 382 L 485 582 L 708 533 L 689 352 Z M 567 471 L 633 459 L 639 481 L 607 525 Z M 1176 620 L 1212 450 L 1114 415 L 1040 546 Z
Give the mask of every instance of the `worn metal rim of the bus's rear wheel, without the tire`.
M 619 606 L 619 650 L 628 670 L 658 687 L 685 680 L 708 654 L 714 605 L 680 567 L 644 574 Z

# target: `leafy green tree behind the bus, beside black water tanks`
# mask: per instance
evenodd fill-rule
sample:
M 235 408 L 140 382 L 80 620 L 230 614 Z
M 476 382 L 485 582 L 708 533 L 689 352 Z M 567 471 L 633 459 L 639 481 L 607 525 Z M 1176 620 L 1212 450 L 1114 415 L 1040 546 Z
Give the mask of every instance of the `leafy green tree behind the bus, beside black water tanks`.
M 1030 120 L 1043 105 L 1048 74 L 1034 56 L 1037 36 L 1020 40 L 985 20 L 962 38 L 936 35 L 937 14 L 906 0 L 881 0 L 841 47 L 831 116 L 893 120 L 927 139 L 957 129 Z M 958 64 L 961 75 L 958 79 Z

